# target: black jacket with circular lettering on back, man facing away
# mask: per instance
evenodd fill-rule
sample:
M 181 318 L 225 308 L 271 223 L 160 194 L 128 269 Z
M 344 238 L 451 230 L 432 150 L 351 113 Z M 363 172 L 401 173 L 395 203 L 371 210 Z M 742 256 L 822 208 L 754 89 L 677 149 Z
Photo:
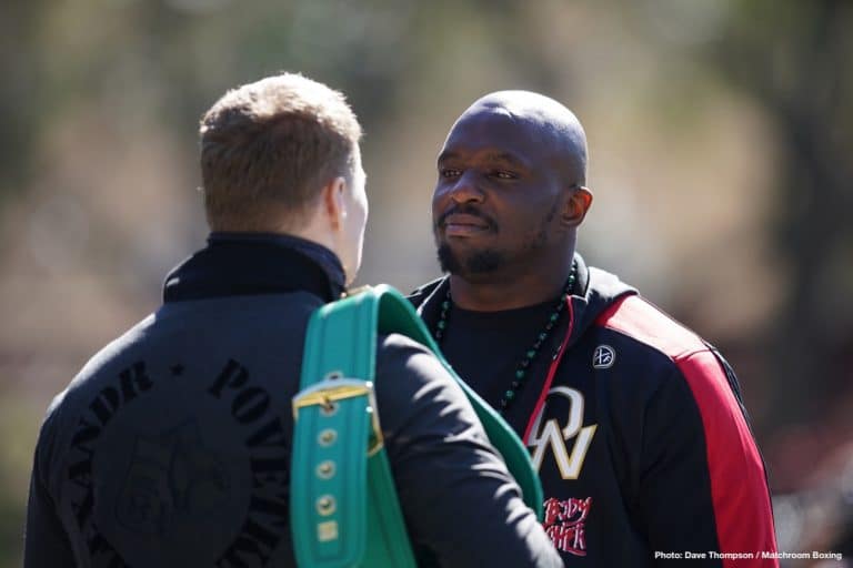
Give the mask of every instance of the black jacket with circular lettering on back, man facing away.
M 162 307 L 51 405 L 24 565 L 293 566 L 291 397 L 308 317 L 342 291 L 338 258 L 319 245 L 212 235 L 168 277 Z M 559 565 L 438 361 L 398 335 L 382 337 L 377 361 L 385 446 L 419 557 Z

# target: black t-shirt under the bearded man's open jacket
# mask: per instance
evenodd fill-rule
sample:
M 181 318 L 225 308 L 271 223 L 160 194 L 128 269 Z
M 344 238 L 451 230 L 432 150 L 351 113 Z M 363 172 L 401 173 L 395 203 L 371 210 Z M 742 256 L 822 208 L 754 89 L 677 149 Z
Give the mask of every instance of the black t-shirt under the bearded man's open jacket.
M 500 312 L 462 310 L 454 304 L 448 315 L 441 349 L 456 374 L 492 407 L 500 408 L 504 393 L 512 388 L 515 381 L 519 364 L 539 334 L 545 331 L 555 304 L 556 298 Z M 504 413 L 504 418 L 519 436 L 524 434 L 552 356 L 564 335 L 565 318 L 563 312 L 528 367 L 522 386 Z

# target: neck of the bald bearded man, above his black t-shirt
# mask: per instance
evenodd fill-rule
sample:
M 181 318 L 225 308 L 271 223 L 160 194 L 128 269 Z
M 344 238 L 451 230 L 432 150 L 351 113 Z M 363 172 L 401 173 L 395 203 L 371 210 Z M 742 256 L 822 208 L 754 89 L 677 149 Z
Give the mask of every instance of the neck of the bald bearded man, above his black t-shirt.
M 463 310 L 498 312 L 541 304 L 555 298 L 572 270 L 573 254 L 549 266 L 505 270 L 488 275 L 450 276 L 453 303 Z

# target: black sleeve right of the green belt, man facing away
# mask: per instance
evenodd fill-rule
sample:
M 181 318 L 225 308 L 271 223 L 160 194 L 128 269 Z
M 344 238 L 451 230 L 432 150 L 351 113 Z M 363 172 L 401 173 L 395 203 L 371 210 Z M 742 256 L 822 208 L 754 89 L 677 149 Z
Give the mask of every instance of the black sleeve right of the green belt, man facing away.
M 440 566 L 562 566 L 462 389 L 422 346 L 384 337 L 380 420 L 415 549 Z

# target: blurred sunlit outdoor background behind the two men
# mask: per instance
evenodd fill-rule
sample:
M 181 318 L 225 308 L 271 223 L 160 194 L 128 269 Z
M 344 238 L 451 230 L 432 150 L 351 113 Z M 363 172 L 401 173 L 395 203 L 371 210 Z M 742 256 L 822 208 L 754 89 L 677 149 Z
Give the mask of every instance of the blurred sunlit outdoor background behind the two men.
M 455 118 L 499 89 L 575 111 L 595 193 L 580 251 L 731 359 L 781 549 L 853 566 L 851 30 L 845 0 L 1 2 L 0 566 L 21 561 L 51 397 L 204 242 L 199 116 L 280 70 L 348 94 L 359 280 L 403 290 L 438 275 Z

